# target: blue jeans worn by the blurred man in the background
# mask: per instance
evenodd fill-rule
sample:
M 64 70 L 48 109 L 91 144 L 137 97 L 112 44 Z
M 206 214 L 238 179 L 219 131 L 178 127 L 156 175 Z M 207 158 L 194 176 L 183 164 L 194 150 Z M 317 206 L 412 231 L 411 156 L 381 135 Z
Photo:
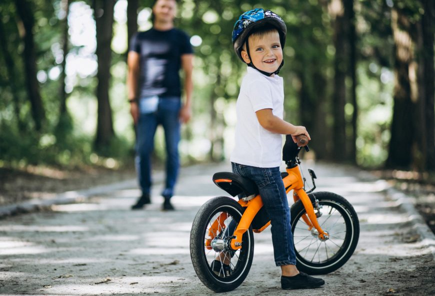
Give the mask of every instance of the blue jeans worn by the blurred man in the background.
M 169 199 L 173 195 L 179 168 L 180 108 L 179 97 L 154 96 L 139 100 L 135 163 L 142 194 L 149 194 L 151 189 L 151 153 L 154 149 L 155 130 L 161 124 L 166 143 L 166 183 L 162 196 Z

